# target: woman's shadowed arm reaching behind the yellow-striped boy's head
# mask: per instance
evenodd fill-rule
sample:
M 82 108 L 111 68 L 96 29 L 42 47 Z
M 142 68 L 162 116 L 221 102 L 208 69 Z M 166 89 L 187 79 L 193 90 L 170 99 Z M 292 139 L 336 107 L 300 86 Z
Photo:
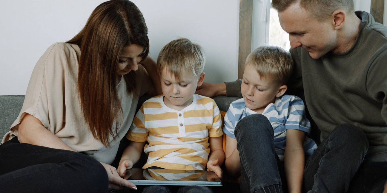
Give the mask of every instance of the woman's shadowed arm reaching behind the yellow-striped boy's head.
M 140 64 L 144 66 L 147 73 L 149 74 L 149 77 L 151 78 L 154 86 L 154 90 L 147 92 L 147 95 L 161 95 L 161 81 L 159 73 L 157 73 L 157 64 L 156 62 L 148 56 L 144 61 L 142 61 Z

